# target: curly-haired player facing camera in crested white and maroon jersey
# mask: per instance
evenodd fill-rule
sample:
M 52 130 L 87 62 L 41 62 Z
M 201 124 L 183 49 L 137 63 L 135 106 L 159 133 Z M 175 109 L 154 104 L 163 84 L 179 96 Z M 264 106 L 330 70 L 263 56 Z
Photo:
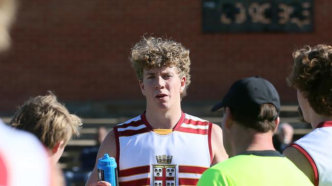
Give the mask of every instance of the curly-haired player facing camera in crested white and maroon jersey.
M 146 111 L 115 126 L 98 157 L 116 157 L 119 185 L 196 185 L 204 170 L 228 156 L 219 126 L 181 110 L 191 82 L 189 50 L 149 37 L 136 43 L 130 60 Z M 95 167 L 86 185 L 110 185 L 97 178 Z

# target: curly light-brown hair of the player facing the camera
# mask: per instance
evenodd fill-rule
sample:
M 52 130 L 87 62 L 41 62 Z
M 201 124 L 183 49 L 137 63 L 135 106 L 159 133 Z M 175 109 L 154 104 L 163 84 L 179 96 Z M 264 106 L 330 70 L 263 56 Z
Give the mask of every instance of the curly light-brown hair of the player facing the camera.
M 190 81 L 189 50 L 181 43 L 162 38 L 148 37 L 140 40 L 131 49 L 129 59 L 136 71 L 138 80 L 143 81 L 143 69 L 176 67 L 179 77 L 186 77 L 186 85 L 181 98 L 186 95 Z

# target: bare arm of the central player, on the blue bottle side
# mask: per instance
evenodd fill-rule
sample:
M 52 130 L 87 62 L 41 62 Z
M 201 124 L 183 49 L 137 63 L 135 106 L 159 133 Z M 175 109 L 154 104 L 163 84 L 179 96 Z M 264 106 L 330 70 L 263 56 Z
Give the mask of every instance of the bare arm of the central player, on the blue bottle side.
M 97 186 L 97 185 L 111 185 L 105 181 L 98 181 L 98 172 L 97 172 L 97 163 L 98 159 L 103 157 L 105 153 L 108 153 L 111 157 L 116 157 L 116 143 L 115 143 L 115 135 L 114 131 L 111 130 L 107 136 L 105 137 L 102 145 L 99 148 L 96 164 L 90 174 L 88 181 L 86 182 L 85 186 Z

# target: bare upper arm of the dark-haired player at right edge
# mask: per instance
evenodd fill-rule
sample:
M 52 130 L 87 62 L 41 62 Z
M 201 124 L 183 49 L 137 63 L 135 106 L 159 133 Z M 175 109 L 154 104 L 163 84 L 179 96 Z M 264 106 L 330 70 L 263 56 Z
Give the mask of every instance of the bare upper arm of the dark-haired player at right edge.
M 310 162 L 295 147 L 287 147 L 283 151 L 283 155 L 290 159 L 309 179 L 314 183 L 314 171 Z

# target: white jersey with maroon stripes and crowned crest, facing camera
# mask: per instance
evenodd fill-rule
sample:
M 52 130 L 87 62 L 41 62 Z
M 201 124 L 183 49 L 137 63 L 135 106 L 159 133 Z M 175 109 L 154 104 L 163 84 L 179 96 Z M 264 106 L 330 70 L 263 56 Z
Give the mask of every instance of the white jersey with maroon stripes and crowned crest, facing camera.
M 211 122 L 184 113 L 164 135 L 145 114 L 115 126 L 119 185 L 196 185 L 212 161 L 211 129 Z

